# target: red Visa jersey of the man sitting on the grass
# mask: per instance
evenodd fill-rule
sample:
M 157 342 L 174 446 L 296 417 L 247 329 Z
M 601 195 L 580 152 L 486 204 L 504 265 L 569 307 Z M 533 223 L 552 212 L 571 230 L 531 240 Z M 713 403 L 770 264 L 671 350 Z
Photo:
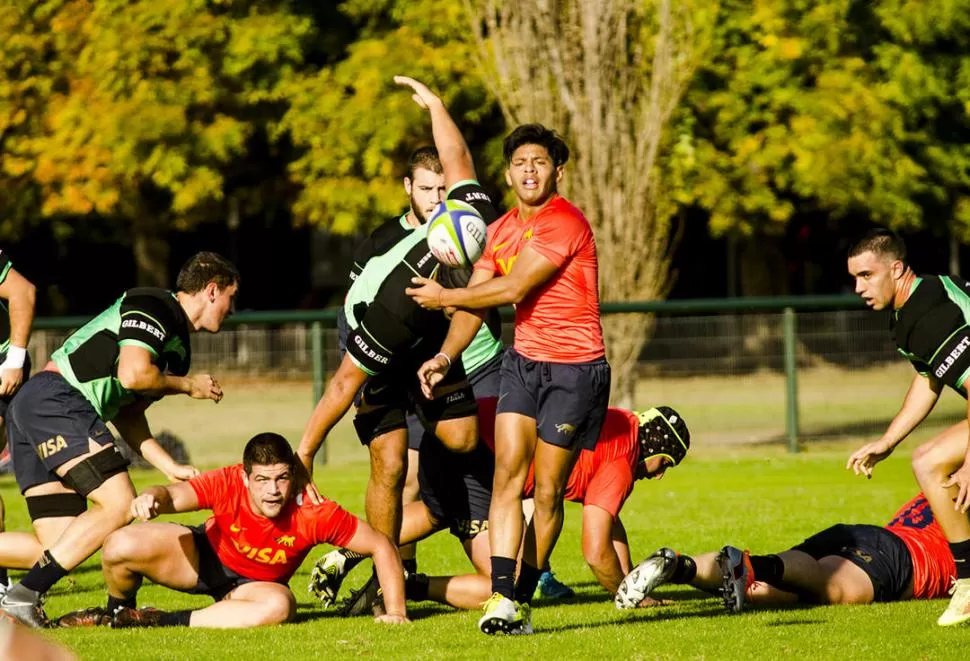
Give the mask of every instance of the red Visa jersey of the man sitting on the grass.
M 219 560 L 240 576 L 286 583 L 317 544 L 346 546 L 358 519 L 337 503 L 291 500 L 275 518 L 253 511 L 242 464 L 189 480 L 199 509 L 212 510 L 205 532 Z M 300 501 L 300 502 L 298 502 Z

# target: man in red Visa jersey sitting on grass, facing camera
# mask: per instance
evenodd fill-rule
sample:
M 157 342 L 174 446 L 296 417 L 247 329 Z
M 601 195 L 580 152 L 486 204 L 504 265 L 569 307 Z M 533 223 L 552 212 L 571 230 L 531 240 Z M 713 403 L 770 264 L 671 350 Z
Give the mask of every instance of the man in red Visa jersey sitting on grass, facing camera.
M 372 556 L 384 588 L 378 622 L 407 622 L 404 570 L 397 548 L 333 501 L 314 505 L 296 493 L 296 456 L 279 434 L 254 436 L 243 463 L 188 482 L 149 487 L 131 504 L 143 521 L 160 514 L 212 510 L 202 526 L 131 525 L 112 533 L 101 556 L 106 608 L 70 613 L 61 626 L 246 628 L 293 617 L 288 583 L 310 549 L 333 544 Z M 216 600 L 199 610 L 136 608 L 142 581 Z

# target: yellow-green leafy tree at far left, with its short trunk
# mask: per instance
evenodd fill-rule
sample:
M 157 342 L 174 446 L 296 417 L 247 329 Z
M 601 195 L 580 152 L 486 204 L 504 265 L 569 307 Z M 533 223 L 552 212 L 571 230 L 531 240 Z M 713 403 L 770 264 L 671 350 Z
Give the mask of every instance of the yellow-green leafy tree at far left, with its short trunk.
M 286 4 L 203 0 L 2 11 L 0 62 L 40 69 L 14 98 L 24 110 L 28 91 L 44 98 L 4 144 L 0 187 L 29 178 L 45 217 L 123 221 L 139 281 L 168 286 L 165 232 L 221 213 L 226 177 L 281 112 L 312 21 Z

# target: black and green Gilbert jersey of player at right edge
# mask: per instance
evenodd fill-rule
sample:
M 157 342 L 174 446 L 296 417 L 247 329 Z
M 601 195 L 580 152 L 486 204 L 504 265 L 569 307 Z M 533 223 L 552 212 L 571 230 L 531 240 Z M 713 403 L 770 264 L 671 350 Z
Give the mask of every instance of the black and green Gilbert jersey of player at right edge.
M 893 311 L 893 339 L 920 374 L 939 379 L 962 396 L 970 376 L 970 283 L 925 275 Z

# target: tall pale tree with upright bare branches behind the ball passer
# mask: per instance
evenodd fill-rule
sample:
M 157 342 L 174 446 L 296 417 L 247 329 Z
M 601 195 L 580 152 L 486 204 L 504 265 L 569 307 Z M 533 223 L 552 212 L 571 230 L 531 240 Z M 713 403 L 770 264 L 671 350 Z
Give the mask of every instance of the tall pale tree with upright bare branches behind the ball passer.
M 670 0 L 466 0 L 479 62 L 509 125 L 540 122 L 572 149 L 564 191 L 596 234 L 600 296 L 663 298 L 689 152 L 671 132 L 716 6 Z M 604 319 L 614 396 L 630 406 L 653 319 Z

